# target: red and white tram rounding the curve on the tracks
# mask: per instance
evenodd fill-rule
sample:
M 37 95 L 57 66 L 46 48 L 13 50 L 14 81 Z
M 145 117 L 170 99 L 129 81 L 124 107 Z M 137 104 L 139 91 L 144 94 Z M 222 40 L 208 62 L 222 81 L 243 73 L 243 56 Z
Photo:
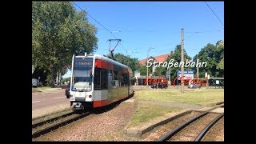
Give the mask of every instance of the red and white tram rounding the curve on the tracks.
M 70 106 L 84 110 L 109 105 L 127 98 L 132 70 L 120 62 L 100 54 L 72 58 Z

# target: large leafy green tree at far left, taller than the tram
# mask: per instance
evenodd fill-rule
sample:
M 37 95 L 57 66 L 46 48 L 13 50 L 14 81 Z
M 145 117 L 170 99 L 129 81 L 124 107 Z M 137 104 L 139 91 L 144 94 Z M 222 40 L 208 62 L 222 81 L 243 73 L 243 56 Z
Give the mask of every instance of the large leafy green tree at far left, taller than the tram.
M 32 2 L 32 65 L 54 74 L 70 65 L 72 55 L 97 50 L 97 29 L 71 2 Z

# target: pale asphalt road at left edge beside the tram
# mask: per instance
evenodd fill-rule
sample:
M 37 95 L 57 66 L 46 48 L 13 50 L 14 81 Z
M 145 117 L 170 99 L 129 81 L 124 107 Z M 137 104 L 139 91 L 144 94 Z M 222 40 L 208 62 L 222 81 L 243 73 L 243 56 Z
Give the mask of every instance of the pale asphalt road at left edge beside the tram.
M 70 99 L 66 98 L 65 89 L 50 89 L 32 93 L 32 110 L 63 103 L 70 103 Z

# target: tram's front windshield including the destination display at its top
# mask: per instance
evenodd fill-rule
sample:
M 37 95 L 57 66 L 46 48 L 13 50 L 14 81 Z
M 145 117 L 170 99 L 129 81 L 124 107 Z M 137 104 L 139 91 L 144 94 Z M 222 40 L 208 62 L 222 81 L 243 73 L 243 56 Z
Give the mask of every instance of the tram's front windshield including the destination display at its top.
M 72 91 L 92 90 L 92 67 L 93 58 L 75 58 L 73 69 Z

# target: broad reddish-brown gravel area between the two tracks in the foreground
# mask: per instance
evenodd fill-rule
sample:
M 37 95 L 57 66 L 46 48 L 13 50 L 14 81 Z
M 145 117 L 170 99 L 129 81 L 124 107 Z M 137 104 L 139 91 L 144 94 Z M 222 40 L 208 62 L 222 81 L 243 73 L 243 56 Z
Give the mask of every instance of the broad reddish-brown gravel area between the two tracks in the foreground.
M 123 128 L 137 109 L 135 102 L 122 102 L 113 109 L 90 114 L 32 141 L 139 141 L 128 137 Z

